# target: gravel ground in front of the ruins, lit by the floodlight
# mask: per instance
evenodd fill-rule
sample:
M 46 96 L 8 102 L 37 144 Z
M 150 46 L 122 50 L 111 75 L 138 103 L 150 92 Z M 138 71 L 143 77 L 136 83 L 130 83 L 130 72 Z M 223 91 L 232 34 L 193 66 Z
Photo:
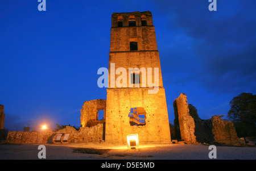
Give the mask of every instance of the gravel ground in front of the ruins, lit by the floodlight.
M 1 144 L 0 159 L 38 159 L 41 144 Z M 46 146 L 46 159 L 132 159 L 132 160 L 205 160 L 211 150 L 208 145 L 140 144 L 139 149 L 127 149 L 125 144 L 71 143 L 42 144 Z M 80 153 L 79 153 L 80 152 Z M 217 159 L 255 160 L 256 147 L 217 146 Z

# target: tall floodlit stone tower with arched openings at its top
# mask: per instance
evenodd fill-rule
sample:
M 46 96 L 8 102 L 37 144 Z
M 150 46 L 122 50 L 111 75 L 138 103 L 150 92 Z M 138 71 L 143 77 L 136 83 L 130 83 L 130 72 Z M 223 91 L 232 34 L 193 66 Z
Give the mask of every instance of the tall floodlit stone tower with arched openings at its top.
M 124 68 L 126 72 L 117 72 L 118 68 Z M 142 73 L 142 68 L 146 69 L 147 74 L 148 68 L 152 68 L 152 80 L 148 79 L 150 76 Z M 157 69 L 158 77 L 154 75 Z M 130 134 L 138 134 L 139 141 L 170 142 L 166 94 L 150 11 L 112 14 L 109 71 L 106 142 L 125 143 L 126 136 Z M 120 81 L 123 74 L 127 77 Z M 144 78 L 146 84 L 143 84 Z M 150 81 L 154 82 L 157 78 L 159 84 L 152 87 Z M 118 79 L 127 86 L 117 86 L 115 81 Z M 148 91 L 154 88 L 158 89 L 157 93 Z M 139 119 L 132 120 L 129 113 L 136 114 L 137 110 L 138 113 L 142 111 L 142 116 L 139 114 Z

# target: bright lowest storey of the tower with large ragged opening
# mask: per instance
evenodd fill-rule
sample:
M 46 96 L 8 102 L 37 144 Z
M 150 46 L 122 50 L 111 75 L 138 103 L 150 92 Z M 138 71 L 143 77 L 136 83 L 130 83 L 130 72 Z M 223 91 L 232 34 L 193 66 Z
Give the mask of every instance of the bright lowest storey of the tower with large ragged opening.
M 163 88 L 157 94 L 148 89 L 107 89 L 106 141 L 125 143 L 126 136 L 138 134 L 139 141 L 170 142 L 170 126 Z M 146 125 L 131 126 L 129 112 L 133 107 L 146 111 Z

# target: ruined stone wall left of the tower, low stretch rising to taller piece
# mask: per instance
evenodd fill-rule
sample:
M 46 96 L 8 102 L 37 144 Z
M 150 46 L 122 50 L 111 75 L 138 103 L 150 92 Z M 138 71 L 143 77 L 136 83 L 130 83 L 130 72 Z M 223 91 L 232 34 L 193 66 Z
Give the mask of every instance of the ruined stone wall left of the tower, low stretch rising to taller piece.
M 7 143 L 55 143 L 58 134 L 63 134 L 61 136 L 61 143 L 63 143 L 65 134 L 69 134 L 67 143 L 105 140 L 105 109 L 106 100 L 104 99 L 85 101 L 81 109 L 80 120 L 82 127 L 80 127 L 79 131 L 69 126 L 56 132 L 51 130 L 44 132 L 9 131 Z M 104 110 L 104 120 L 98 120 L 99 110 Z

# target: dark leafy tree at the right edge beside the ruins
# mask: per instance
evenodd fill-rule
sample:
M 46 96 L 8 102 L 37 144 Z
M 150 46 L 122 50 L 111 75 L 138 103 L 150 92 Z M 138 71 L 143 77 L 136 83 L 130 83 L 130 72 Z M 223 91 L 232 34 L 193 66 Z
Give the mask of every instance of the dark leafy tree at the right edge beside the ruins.
M 241 93 L 229 104 L 228 118 L 234 123 L 237 136 L 256 136 L 256 95 Z

